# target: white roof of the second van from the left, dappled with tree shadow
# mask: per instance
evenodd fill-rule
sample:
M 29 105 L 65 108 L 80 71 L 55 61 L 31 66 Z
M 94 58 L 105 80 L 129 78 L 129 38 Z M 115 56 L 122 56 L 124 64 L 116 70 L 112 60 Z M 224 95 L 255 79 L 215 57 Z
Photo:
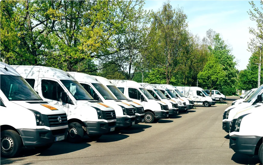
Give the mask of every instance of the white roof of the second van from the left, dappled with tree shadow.
M 17 72 L 20 73 L 24 78 L 35 78 L 35 76 L 43 78 L 54 78 L 58 80 L 73 80 L 76 81 L 67 72 L 51 68 L 47 66 L 23 66 L 23 65 L 13 65 L 12 66 Z M 31 74 L 32 72 L 39 72 L 38 75 Z M 33 77 L 34 76 L 34 77 Z

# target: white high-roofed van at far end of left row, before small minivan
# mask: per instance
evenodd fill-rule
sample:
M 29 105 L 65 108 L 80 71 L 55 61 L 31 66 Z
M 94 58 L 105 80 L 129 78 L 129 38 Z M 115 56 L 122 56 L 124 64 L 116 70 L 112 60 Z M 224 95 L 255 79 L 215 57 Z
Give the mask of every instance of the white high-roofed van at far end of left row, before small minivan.
M 213 97 L 210 97 L 205 90 L 200 87 L 176 87 L 184 96 L 189 97 L 194 100 L 196 105 L 204 105 L 209 107 L 215 105 L 216 100 Z

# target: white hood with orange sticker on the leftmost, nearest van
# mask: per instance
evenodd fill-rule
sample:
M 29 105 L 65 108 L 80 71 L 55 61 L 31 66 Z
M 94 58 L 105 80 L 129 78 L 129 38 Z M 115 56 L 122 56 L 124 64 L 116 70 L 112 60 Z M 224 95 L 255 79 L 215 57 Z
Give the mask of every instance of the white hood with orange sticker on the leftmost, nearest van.
M 46 101 L 11 101 L 27 109 L 32 109 L 44 115 L 64 114 L 64 110 L 57 108 L 55 105 Z

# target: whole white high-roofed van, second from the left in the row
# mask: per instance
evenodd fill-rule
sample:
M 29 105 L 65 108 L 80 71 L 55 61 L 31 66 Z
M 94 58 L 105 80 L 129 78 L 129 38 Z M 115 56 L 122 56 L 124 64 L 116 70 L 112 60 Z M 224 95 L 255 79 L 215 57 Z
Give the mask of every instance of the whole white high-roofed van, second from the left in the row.
M 98 139 L 115 130 L 114 109 L 96 101 L 67 72 L 44 66 L 13 66 L 43 100 L 67 113 L 69 142 L 81 142 L 83 136 Z

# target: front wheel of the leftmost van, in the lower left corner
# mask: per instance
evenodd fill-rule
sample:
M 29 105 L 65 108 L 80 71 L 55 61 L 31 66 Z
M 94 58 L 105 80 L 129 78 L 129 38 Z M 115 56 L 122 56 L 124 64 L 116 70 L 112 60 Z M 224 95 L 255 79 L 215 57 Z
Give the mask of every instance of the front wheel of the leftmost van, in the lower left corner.
M 1 131 L 1 157 L 15 157 L 20 154 L 23 142 L 14 130 Z

